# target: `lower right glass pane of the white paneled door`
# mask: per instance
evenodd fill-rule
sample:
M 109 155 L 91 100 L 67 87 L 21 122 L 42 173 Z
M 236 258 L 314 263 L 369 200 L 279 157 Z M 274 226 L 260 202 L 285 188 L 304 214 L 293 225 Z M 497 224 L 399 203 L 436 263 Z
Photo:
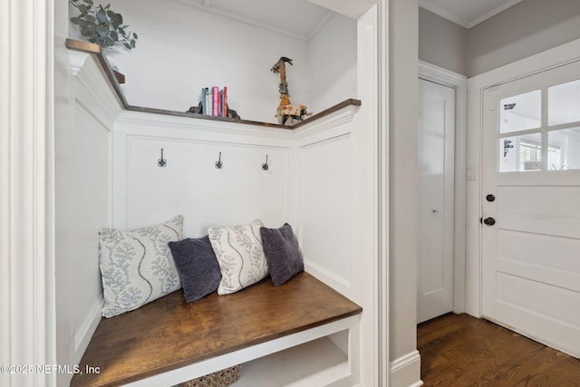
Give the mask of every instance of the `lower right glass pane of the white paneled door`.
M 580 128 L 548 131 L 547 169 L 580 169 Z

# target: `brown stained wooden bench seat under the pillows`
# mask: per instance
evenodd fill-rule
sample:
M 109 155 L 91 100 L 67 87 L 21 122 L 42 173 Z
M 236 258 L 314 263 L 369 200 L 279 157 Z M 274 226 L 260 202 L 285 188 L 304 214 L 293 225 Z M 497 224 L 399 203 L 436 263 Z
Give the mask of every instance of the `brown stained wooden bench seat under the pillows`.
M 236 294 L 214 293 L 190 304 L 179 290 L 102 319 L 71 385 L 140 381 L 361 312 L 359 305 L 305 272 L 285 285 L 275 287 L 267 278 Z

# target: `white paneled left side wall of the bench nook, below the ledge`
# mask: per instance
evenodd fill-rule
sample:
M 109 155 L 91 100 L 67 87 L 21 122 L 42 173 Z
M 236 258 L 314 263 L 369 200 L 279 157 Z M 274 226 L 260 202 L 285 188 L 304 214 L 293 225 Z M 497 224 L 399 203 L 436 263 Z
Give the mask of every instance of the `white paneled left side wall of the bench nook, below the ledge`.
M 56 344 L 59 363 L 76 364 L 101 314 L 97 232 L 111 227 L 111 130 L 121 107 L 92 56 L 68 56 L 60 64 L 70 89 L 54 131 Z M 71 376 L 60 373 L 59 383 Z

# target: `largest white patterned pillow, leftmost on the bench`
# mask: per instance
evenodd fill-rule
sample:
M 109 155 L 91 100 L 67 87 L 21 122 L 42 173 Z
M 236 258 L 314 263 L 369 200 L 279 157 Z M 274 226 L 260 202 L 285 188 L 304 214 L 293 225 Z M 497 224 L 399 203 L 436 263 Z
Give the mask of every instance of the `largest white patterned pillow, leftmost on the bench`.
M 155 226 L 99 231 L 103 317 L 129 312 L 181 287 L 168 243 L 181 239 L 181 215 Z

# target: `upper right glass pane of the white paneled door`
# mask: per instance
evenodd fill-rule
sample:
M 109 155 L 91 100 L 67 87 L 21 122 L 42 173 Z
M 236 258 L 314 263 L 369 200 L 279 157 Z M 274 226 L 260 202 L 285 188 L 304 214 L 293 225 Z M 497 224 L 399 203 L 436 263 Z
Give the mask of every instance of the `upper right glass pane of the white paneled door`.
M 580 121 L 580 80 L 547 89 L 547 123 L 560 125 Z

